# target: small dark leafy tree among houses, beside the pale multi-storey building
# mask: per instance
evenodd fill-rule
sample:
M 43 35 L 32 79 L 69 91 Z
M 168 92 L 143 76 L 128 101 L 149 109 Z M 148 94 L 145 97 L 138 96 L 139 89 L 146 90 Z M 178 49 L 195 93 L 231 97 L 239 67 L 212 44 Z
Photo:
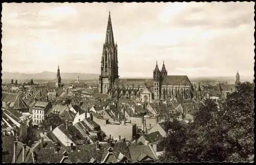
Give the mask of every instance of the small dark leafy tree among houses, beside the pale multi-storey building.
M 50 114 L 45 116 L 45 120 L 42 120 L 41 125 L 45 130 L 49 130 L 50 126 L 52 126 L 53 130 L 62 123 L 63 122 L 58 115 Z

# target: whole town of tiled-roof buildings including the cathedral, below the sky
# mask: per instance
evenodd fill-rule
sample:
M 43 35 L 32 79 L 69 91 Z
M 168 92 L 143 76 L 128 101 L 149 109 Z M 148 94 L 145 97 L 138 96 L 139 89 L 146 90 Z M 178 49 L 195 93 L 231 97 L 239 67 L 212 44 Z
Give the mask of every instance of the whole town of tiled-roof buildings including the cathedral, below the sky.
M 153 78 L 119 78 L 109 15 L 99 84 L 77 81 L 2 85 L 2 162 L 152 162 L 174 119 L 189 124 L 206 99 L 225 98 L 235 84 L 192 83 L 156 64 Z M 43 125 L 57 116 L 57 126 Z

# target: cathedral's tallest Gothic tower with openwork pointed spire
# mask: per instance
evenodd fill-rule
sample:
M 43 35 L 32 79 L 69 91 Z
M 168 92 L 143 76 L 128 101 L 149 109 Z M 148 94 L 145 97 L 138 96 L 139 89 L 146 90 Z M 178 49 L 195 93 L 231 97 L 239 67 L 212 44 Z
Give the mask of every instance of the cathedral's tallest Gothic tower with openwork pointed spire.
M 109 13 L 106 38 L 101 57 L 99 93 L 110 93 L 118 76 L 117 44 L 114 42 L 111 16 Z

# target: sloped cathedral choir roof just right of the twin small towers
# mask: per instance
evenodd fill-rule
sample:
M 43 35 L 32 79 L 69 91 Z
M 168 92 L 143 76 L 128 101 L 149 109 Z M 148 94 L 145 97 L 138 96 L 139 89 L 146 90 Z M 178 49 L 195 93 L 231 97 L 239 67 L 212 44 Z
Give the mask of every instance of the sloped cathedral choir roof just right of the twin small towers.
M 163 76 L 162 85 L 191 86 L 191 82 L 186 75 Z

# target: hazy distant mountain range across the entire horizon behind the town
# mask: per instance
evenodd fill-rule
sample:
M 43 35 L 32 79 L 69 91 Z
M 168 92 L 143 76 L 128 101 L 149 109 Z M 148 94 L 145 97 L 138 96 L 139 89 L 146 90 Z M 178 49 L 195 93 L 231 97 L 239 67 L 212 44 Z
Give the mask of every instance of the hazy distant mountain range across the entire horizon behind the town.
M 60 73 L 61 79 L 76 80 L 79 76 L 80 80 L 98 80 L 99 74 L 94 73 Z M 2 71 L 2 79 L 18 79 L 18 80 L 54 80 L 56 76 L 55 72 L 41 72 L 41 73 L 12 73 Z M 153 77 L 121 77 L 120 78 L 153 78 Z M 208 77 L 189 77 L 190 81 L 234 81 L 234 76 L 208 76 Z M 253 81 L 252 77 L 240 77 L 241 81 Z

